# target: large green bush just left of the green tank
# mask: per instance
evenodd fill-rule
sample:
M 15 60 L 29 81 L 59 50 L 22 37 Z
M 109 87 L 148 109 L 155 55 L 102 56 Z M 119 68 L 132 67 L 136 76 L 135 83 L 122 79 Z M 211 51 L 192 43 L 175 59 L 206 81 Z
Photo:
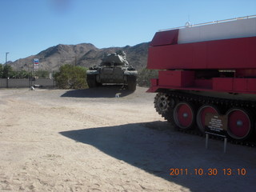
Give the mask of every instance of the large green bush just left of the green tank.
M 55 75 L 58 88 L 80 90 L 87 88 L 86 68 L 66 64 Z

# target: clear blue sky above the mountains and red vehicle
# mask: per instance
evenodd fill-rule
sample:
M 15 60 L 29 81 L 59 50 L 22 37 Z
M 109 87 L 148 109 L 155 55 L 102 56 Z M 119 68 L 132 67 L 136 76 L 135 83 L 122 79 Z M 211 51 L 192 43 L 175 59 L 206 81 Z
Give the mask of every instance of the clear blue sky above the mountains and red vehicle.
M 150 42 L 161 29 L 256 14 L 255 0 L 0 0 L 0 63 L 58 44 Z

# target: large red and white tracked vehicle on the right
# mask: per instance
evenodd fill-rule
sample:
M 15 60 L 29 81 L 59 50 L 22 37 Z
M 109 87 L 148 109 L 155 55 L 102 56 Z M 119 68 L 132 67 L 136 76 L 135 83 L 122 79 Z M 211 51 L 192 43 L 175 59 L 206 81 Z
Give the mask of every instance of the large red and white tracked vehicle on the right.
M 254 134 L 256 15 L 160 30 L 147 68 L 159 70 L 148 92 L 158 92 L 154 106 L 174 126 L 204 133 L 206 114 L 216 114 L 230 138 Z

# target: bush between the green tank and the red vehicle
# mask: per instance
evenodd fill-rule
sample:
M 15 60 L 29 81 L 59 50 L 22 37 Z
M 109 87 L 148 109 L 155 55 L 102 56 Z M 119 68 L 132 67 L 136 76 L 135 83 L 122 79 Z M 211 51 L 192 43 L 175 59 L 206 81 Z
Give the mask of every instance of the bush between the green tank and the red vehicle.
M 138 86 L 150 87 L 150 79 L 158 78 L 158 70 L 142 69 L 138 71 Z

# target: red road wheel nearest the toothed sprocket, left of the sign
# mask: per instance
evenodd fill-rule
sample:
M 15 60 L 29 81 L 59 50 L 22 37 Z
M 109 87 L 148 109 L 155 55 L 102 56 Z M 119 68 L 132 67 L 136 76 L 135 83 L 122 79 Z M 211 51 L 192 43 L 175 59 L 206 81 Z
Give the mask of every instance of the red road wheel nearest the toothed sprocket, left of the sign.
M 178 102 L 174 108 L 174 123 L 182 130 L 194 126 L 194 106 L 190 102 Z

